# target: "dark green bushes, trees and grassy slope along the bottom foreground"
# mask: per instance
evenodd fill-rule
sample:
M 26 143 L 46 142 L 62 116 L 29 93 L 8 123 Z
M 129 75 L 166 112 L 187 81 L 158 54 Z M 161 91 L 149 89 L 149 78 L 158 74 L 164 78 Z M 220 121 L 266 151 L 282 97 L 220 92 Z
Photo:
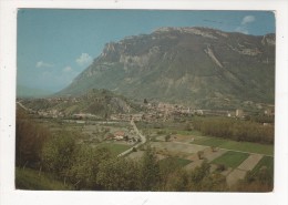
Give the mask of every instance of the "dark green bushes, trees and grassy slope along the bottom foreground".
M 54 135 L 21 111 L 18 112 L 16 150 L 17 188 L 177 192 L 268 192 L 272 188 L 269 168 L 261 165 L 228 187 L 225 176 L 217 170 L 210 172 L 206 161 L 187 171 L 183 168 L 187 161 L 173 157 L 158 161 L 148 145 L 138 161 L 115 157 L 107 147 L 79 144 L 70 132 Z M 266 161 L 263 164 L 267 164 Z

